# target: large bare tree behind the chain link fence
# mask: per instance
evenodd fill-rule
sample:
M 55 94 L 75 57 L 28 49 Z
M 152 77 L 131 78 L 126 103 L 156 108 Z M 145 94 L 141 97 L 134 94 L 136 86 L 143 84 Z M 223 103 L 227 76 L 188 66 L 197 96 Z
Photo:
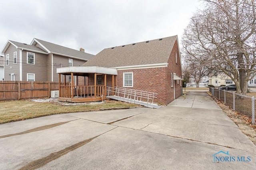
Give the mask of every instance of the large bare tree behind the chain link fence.
M 255 76 L 255 0 L 203 0 L 206 8 L 191 18 L 182 44 L 191 61 L 223 72 L 246 94 Z

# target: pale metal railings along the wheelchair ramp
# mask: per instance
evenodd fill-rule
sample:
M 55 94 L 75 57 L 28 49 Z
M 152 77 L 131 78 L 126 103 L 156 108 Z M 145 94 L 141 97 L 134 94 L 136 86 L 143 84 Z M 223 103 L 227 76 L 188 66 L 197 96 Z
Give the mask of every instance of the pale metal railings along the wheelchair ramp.
M 157 93 L 122 87 L 107 87 L 107 92 L 108 96 L 118 96 L 120 98 L 122 97 L 130 103 L 135 103 L 135 100 L 137 100 L 153 104 L 154 99 L 157 98 Z

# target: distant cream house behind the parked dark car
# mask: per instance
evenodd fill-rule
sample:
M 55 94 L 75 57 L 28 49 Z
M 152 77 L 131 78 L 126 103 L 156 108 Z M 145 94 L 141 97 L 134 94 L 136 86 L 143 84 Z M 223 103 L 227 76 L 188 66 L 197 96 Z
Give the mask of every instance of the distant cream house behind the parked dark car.
M 209 77 L 209 85 L 220 86 L 220 85 L 229 85 L 229 84 L 234 84 L 234 82 L 226 74 L 218 74 L 218 75 Z

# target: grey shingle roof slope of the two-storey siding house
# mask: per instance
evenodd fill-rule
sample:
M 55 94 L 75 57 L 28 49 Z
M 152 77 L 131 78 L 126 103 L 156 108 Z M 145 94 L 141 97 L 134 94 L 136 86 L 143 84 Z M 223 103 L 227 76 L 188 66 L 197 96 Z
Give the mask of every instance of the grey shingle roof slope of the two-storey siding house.
M 43 41 L 40 39 L 36 39 L 36 40 L 39 43 L 41 43 L 44 47 L 46 47 L 46 49 L 48 49 L 51 53 L 57 53 L 60 55 L 68 55 L 68 56 L 78 57 L 78 58 L 85 59 L 85 60 L 89 60 L 92 57 L 94 57 L 94 55 L 92 55 L 92 54 L 88 54 L 88 53 L 84 53 L 84 52 L 81 52 L 78 50 L 70 49 L 68 47 L 63 47 L 61 45 L 57 45 L 54 43 L 49 43 L 47 41 Z

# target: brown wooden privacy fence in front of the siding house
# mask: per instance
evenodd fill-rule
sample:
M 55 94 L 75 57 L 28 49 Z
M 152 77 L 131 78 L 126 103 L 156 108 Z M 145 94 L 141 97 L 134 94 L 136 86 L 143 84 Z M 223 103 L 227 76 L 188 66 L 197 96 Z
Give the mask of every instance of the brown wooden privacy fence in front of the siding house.
M 58 82 L 4 80 L 0 81 L 0 100 L 50 98 L 52 90 L 59 90 Z

